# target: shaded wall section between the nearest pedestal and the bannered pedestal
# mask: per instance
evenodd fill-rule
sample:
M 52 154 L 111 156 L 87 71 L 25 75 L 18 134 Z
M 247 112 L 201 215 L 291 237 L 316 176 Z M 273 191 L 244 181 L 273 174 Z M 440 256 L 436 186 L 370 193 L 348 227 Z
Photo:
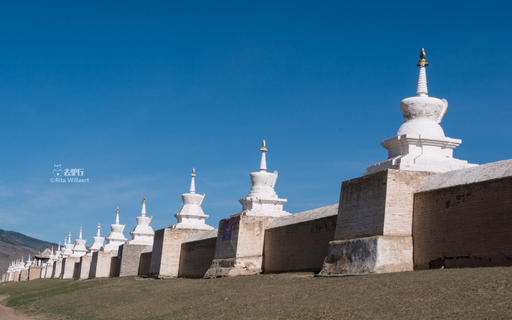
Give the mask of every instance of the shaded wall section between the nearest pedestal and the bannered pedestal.
M 334 240 L 338 204 L 275 218 L 265 230 L 265 272 L 320 270 Z

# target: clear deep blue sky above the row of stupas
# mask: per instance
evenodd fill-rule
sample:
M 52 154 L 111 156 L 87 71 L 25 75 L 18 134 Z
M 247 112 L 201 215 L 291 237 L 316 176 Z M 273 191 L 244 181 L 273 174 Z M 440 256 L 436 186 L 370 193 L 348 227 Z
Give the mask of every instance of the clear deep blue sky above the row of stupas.
M 454 156 L 511 158 L 508 2 L 4 2 L 0 228 L 88 245 L 142 197 L 176 222 L 196 167 L 209 225 L 239 211 L 258 170 L 295 213 L 387 158 L 425 48 Z M 50 182 L 53 167 L 89 183 Z

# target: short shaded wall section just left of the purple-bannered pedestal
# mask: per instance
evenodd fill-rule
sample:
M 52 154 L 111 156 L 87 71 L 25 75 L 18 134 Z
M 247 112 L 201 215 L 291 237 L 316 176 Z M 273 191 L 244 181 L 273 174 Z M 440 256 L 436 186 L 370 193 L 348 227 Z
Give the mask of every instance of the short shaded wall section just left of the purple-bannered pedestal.
M 203 278 L 214 260 L 219 229 L 192 234 L 181 244 L 180 278 Z

